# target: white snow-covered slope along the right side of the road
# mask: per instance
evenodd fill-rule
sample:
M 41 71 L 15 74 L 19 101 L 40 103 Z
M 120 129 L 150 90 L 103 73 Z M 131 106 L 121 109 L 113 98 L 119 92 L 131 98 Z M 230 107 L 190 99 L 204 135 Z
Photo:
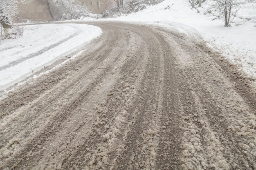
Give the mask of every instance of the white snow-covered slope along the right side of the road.
M 209 1 L 203 2 L 202 7 L 196 5 L 194 9 L 188 0 L 165 0 L 114 20 L 147 22 L 176 27 L 180 31 L 186 31 L 182 27 L 190 26 L 256 86 L 256 9 L 252 4 L 245 4 L 229 27 L 225 27 L 224 20 L 218 17 L 218 12 L 212 9 Z

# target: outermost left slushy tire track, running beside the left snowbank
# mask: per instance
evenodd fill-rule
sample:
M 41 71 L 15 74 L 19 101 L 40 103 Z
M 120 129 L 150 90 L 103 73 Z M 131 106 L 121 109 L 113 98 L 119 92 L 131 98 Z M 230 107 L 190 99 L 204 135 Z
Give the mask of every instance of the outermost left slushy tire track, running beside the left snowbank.
M 28 89 L 26 86 L 24 88 L 19 88 L 19 91 L 16 92 L 14 97 L 9 96 L 5 99 L 6 101 L 8 101 L 6 103 L 9 105 L 9 108 L 11 109 L 8 109 L 8 107 L 5 107 L 4 104 L 2 104 L 2 102 L 0 101 L 0 109 L 1 109 L 0 117 L 11 114 L 13 110 L 16 110 L 17 108 L 23 106 L 24 104 L 33 101 L 38 97 L 38 94 L 44 93 L 44 91 L 51 89 L 53 86 L 58 84 L 61 80 L 66 79 L 67 75 L 77 71 L 78 70 L 77 68 L 80 68 L 84 65 L 92 65 L 92 67 L 90 68 L 90 71 L 92 71 L 94 67 L 97 67 L 95 66 L 97 65 L 96 63 L 100 62 L 101 59 L 103 58 L 105 59 L 110 53 L 110 51 L 112 50 L 111 48 L 108 48 L 108 49 L 103 48 L 105 44 L 111 44 L 111 43 L 117 44 L 118 39 L 112 40 L 112 36 L 114 35 L 115 35 L 115 32 L 110 32 L 109 34 L 106 35 L 103 41 L 101 41 L 101 39 L 94 40 L 94 43 L 90 47 L 88 47 L 92 49 L 92 51 L 90 51 L 90 55 L 86 55 L 87 52 L 85 52 L 83 54 L 85 57 L 83 57 L 81 60 L 72 60 L 72 64 L 74 65 L 74 67 L 69 67 L 69 69 L 65 67 L 61 67 L 59 68 L 60 70 L 58 72 L 53 71 L 51 73 L 52 76 L 40 77 L 41 82 L 40 83 L 33 82 L 30 89 Z M 95 57 L 95 54 L 99 54 L 97 55 L 97 58 Z M 102 55 L 102 54 L 105 54 L 105 55 Z M 47 68 L 48 67 L 50 66 L 47 66 Z M 47 70 L 44 70 L 44 71 L 47 71 Z M 41 88 L 37 88 L 38 86 L 40 86 Z

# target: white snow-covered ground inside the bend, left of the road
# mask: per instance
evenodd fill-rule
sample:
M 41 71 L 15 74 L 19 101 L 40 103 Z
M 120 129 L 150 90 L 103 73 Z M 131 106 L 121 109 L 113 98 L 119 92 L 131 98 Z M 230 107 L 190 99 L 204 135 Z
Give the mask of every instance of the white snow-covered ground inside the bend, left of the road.
M 22 38 L 0 42 L 0 91 L 72 53 L 101 33 L 99 27 L 85 24 L 25 26 Z

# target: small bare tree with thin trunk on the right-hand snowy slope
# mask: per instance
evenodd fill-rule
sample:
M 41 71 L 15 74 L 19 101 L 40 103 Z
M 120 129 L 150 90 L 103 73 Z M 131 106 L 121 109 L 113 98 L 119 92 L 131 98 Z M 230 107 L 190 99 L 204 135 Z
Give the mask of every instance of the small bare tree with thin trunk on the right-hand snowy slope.
M 220 10 L 224 14 L 225 26 L 230 26 L 232 20 L 236 16 L 239 9 L 243 7 L 244 4 L 252 3 L 252 0 L 211 0 L 213 7 Z M 232 19 L 231 19 L 232 18 Z

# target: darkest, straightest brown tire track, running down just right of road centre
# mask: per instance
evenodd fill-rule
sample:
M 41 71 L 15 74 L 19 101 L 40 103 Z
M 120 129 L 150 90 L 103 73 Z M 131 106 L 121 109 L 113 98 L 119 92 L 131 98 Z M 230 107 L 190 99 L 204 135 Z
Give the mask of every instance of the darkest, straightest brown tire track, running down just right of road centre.
M 164 35 L 167 37 L 167 35 Z M 159 39 L 162 37 L 159 36 Z M 175 57 L 177 52 L 170 45 L 171 43 L 162 40 L 165 46 L 162 50 L 164 53 L 164 76 L 161 81 L 164 83 L 163 88 L 163 111 L 160 114 L 161 125 L 159 132 L 159 147 L 157 150 L 157 163 L 156 169 L 179 169 L 179 155 L 180 155 L 180 118 L 178 100 L 179 100 L 179 88 L 180 80 L 176 76 L 177 63 Z

